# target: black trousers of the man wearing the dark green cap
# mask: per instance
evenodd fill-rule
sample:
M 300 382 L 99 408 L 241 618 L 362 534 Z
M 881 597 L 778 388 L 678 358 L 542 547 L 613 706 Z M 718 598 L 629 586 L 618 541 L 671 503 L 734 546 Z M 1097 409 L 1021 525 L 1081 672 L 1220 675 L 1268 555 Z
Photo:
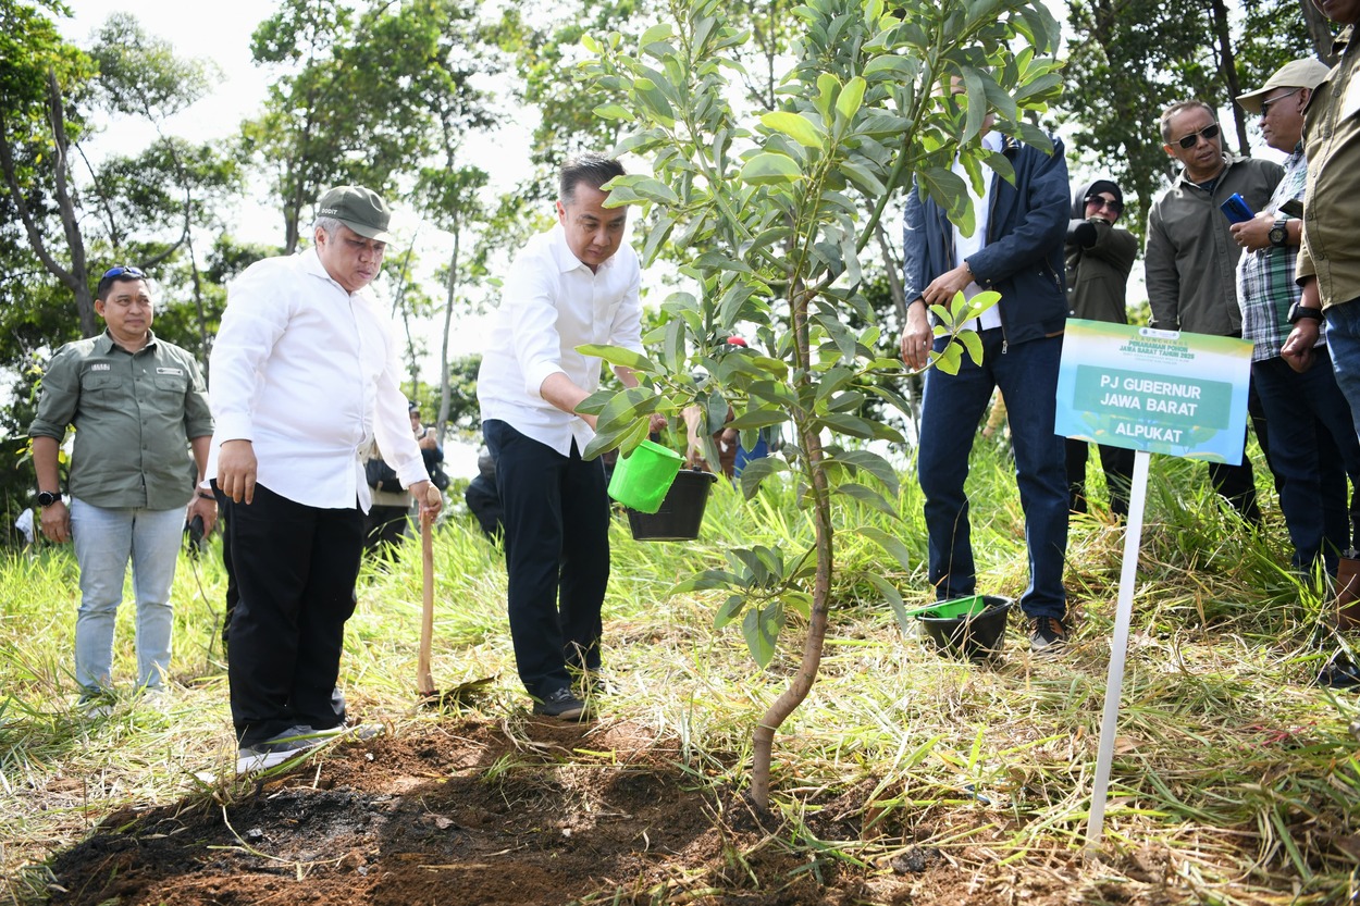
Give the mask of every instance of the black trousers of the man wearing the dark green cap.
M 231 721 L 250 745 L 344 722 L 336 688 L 363 550 L 363 513 L 295 503 L 264 486 L 228 503 L 239 599 L 227 638 Z

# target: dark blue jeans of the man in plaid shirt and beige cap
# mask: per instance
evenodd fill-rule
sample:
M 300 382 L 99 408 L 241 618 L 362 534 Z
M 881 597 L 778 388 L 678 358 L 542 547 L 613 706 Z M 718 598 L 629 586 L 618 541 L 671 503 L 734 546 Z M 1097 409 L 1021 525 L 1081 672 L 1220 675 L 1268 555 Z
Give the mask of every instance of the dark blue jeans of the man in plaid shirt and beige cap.
M 1270 461 L 1284 479 L 1280 511 L 1293 543 L 1293 566 L 1321 556 L 1337 574 L 1337 554 L 1350 541 L 1346 473 L 1360 473 L 1355 422 L 1331 370 L 1327 347 L 1299 374 L 1281 358 L 1251 363 L 1251 380 L 1266 412 Z

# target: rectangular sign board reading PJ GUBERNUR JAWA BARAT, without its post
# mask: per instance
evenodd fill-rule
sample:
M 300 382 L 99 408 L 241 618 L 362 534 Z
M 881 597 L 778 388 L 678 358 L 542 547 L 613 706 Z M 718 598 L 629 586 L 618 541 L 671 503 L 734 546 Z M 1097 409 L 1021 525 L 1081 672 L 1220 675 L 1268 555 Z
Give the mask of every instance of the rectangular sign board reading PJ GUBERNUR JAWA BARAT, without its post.
M 1242 463 L 1251 343 L 1069 320 L 1058 373 L 1064 437 Z

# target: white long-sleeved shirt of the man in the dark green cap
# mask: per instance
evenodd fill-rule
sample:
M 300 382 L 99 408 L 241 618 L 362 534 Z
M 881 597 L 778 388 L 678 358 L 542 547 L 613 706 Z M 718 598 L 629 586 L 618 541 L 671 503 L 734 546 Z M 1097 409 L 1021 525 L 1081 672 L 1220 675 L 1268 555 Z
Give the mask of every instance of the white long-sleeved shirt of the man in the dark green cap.
M 208 374 L 209 477 L 224 441 L 250 441 L 256 480 L 275 494 L 367 511 L 363 454 L 375 439 L 403 486 L 428 479 L 396 333 L 364 291 L 330 279 L 314 249 L 257 261 L 227 287 Z

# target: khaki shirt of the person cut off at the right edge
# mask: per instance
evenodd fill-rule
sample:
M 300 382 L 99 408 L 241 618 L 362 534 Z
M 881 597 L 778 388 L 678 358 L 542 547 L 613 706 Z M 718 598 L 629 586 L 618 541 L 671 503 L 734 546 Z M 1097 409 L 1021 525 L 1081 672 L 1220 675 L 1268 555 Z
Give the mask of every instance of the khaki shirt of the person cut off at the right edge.
M 1308 188 L 1296 279 L 1315 276 L 1322 307 L 1360 298 L 1360 45 L 1337 38 L 1341 61 L 1304 114 Z

